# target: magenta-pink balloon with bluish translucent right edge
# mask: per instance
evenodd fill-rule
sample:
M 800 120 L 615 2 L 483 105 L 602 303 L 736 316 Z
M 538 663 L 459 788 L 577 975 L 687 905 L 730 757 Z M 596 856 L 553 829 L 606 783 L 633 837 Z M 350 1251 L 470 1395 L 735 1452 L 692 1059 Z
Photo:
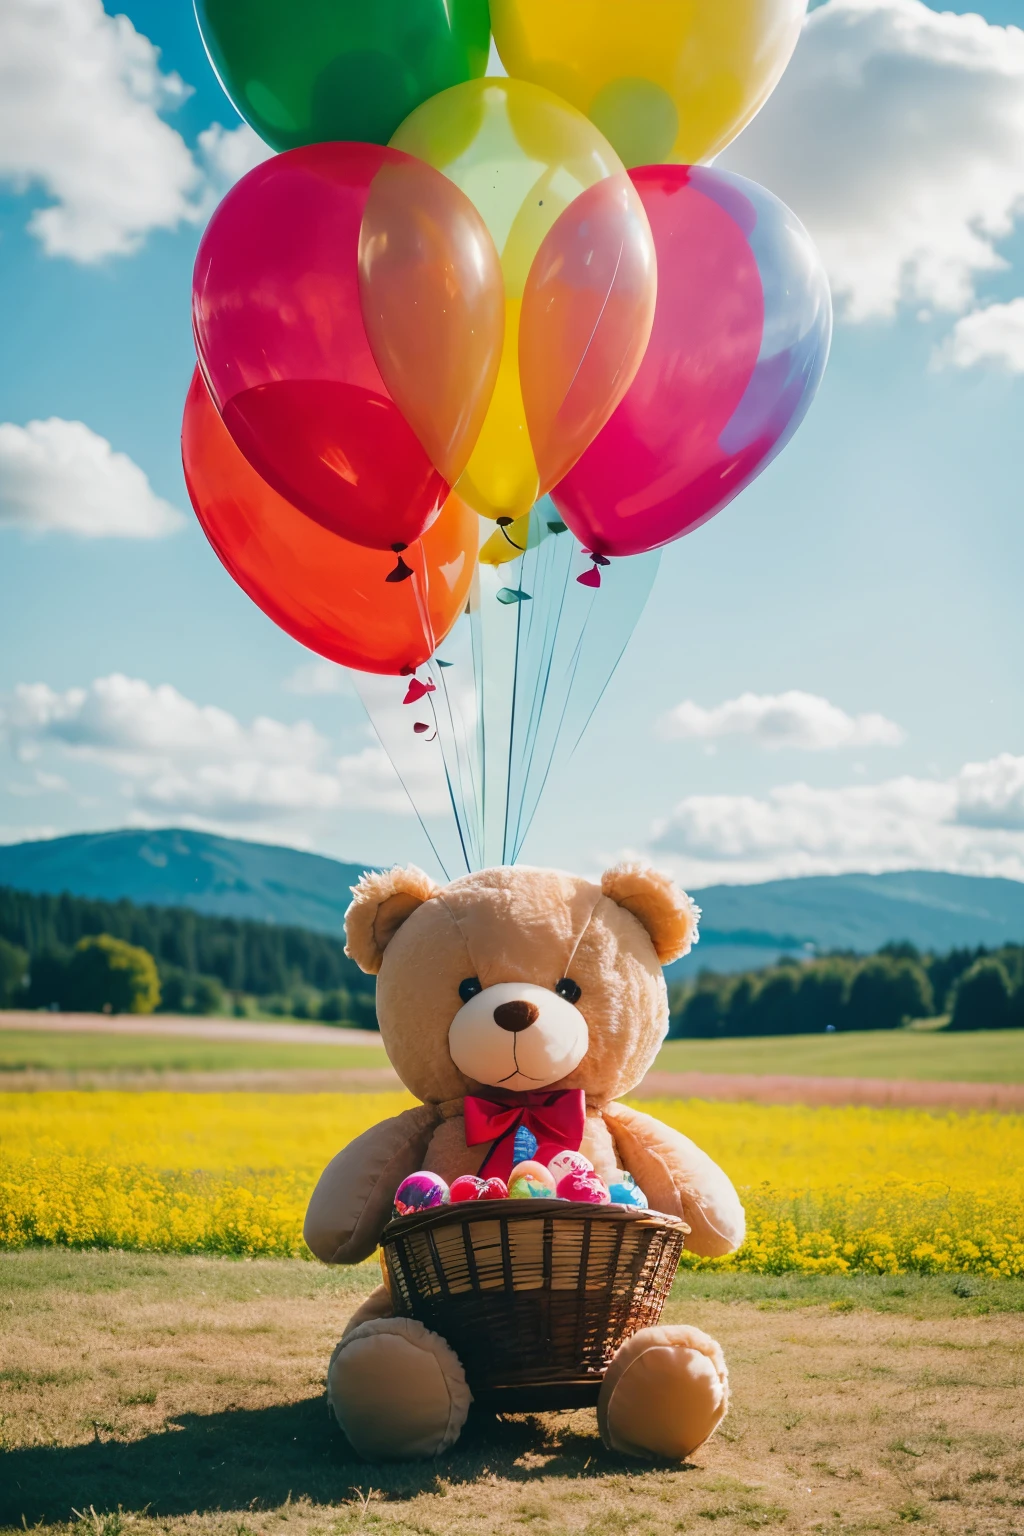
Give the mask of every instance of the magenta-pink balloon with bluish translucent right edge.
M 821 258 L 771 192 L 689 166 L 633 180 L 657 246 L 654 330 L 625 399 L 551 493 L 599 558 L 660 548 L 749 485 L 803 421 L 832 336 Z

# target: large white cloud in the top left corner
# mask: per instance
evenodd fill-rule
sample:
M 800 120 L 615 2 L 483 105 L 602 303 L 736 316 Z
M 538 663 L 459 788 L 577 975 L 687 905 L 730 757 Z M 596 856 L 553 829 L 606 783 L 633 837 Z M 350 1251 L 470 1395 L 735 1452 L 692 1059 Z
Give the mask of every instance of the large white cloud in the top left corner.
M 48 200 L 29 220 L 46 255 L 130 255 L 150 230 L 204 220 L 270 154 L 250 127 L 215 123 L 193 155 L 163 118 L 189 95 L 101 0 L 3 0 L 0 183 Z

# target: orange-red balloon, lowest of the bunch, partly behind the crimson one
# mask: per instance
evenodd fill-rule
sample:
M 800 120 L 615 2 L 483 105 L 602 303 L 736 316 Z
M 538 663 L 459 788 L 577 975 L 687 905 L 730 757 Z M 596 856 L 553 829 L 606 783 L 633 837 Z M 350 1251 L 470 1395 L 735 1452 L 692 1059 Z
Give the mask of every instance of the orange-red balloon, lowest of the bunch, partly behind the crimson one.
M 189 496 L 216 556 L 287 634 L 361 671 L 421 667 L 465 608 L 479 519 L 451 496 L 388 582 L 395 556 L 329 533 L 259 479 L 232 442 L 197 369 L 181 458 Z

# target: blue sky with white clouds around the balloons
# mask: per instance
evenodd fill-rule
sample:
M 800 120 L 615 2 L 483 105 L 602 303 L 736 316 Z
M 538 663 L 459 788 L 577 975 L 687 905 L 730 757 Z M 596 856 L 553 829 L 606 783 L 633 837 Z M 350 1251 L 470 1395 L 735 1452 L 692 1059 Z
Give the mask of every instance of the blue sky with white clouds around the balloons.
M 190 6 L 123 9 L 0 17 L 0 839 L 186 823 L 425 862 L 358 700 L 190 518 L 192 260 L 255 146 Z M 832 359 L 786 453 L 666 551 L 533 862 L 1024 879 L 1015 11 L 826 0 L 723 157 L 818 241 Z

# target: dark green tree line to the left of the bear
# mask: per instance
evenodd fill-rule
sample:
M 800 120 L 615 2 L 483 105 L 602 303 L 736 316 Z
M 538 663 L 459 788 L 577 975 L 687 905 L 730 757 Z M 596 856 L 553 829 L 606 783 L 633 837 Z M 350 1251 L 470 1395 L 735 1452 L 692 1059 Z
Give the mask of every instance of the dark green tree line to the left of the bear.
M 155 1001 L 152 977 L 138 980 L 135 992 L 129 988 L 127 1000 L 126 974 L 141 977 L 146 968 L 129 962 L 126 949 L 152 958 Z M 101 971 L 109 972 L 104 982 Z M 109 994 L 100 1009 L 115 1012 L 247 1014 L 255 1001 L 261 1011 L 376 1028 L 373 977 L 345 955 L 341 937 L 0 886 L 0 1008 L 92 1012 L 97 988 Z

